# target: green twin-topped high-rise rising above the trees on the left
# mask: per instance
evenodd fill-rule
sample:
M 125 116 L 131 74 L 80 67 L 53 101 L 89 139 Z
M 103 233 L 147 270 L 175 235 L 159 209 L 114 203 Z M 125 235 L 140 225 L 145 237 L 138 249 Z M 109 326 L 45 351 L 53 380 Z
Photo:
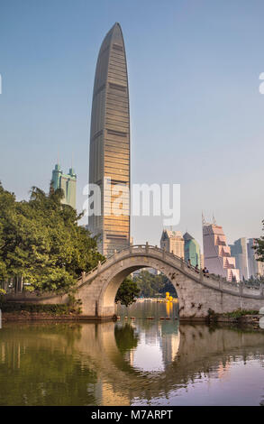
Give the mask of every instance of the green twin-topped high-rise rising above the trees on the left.
M 63 189 L 64 198 L 62 198 L 61 203 L 76 209 L 77 175 L 75 171 L 70 168 L 68 174 L 64 174 L 60 168 L 59 163 L 57 163 L 55 165 L 55 169 L 52 171 L 51 182 L 53 189 Z

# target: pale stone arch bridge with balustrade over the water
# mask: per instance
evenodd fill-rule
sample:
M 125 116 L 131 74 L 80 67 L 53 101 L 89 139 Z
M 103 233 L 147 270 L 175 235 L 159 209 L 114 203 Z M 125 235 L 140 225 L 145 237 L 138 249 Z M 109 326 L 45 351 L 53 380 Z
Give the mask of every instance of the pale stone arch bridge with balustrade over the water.
M 178 293 L 180 318 L 202 319 L 208 309 L 216 313 L 234 309 L 260 309 L 264 306 L 264 290 L 248 288 L 243 283 L 230 283 L 213 275 L 206 277 L 173 253 L 157 246 L 138 244 L 130 246 L 90 271 L 83 272 L 77 281 L 77 299 L 82 301 L 82 315 L 86 318 L 105 319 L 114 317 L 116 292 L 132 272 L 141 268 L 154 268 L 163 272 Z M 34 303 L 65 303 L 67 295 L 33 294 L 9 296 L 8 300 Z

